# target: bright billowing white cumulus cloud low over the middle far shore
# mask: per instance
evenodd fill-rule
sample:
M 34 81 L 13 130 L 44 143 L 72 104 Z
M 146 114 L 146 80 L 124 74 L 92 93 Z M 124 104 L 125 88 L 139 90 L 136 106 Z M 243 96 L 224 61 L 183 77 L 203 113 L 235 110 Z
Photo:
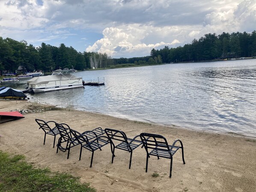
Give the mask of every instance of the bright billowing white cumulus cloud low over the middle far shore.
M 122 57 L 122 55 L 136 56 L 137 52 L 149 55 L 152 48 L 164 47 L 180 43 L 173 39 L 171 43 L 160 41 L 161 31 L 167 30 L 160 27 L 139 26 L 138 24 L 109 27 L 103 30 L 104 37 L 89 46 L 88 52 L 107 53 L 110 56 Z M 155 44 L 146 44 L 146 37 L 155 38 Z M 166 37 L 167 38 L 167 35 Z

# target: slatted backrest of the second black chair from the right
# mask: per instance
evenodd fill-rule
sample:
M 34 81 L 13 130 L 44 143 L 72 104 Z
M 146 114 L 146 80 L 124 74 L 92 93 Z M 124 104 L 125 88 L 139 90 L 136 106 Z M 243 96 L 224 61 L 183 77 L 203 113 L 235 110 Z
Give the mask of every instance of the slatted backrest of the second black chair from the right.
M 107 137 L 110 139 L 110 143 L 112 145 L 115 146 L 116 142 L 125 142 L 128 145 L 127 136 L 124 132 L 110 128 L 106 128 L 105 132 L 107 134 Z

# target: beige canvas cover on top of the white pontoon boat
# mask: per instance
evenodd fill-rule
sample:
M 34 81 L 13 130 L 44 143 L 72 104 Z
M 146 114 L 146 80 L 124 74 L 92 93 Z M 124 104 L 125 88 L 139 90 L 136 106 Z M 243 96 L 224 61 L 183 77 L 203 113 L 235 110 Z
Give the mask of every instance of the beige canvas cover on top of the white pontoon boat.
M 47 84 L 50 81 L 77 80 L 81 78 L 82 77 L 76 77 L 72 74 L 48 75 L 48 76 L 34 77 L 31 80 L 28 80 L 27 83 L 32 85 L 39 85 L 39 84 Z

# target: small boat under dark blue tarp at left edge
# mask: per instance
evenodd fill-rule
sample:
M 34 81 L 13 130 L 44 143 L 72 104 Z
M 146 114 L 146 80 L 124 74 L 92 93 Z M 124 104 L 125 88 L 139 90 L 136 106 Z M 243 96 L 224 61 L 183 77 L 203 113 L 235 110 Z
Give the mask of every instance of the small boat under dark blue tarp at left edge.
M 25 95 L 22 91 L 17 89 L 12 89 L 10 87 L 0 88 L 0 99 L 25 99 Z

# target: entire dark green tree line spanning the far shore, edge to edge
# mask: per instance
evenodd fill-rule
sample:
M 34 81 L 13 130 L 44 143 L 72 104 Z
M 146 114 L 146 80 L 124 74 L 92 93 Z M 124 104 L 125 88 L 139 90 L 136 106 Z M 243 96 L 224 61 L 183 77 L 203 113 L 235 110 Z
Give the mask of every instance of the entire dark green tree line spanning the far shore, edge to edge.
M 34 47 L 24 40 L 15 41 L 0 37 L 0 73 L 5 70 L 14 73 L 18 66 L 23 66 L 24 70 L 30 72 L 51 72 L 64 68 L 117 68 L 253 56 L 256 56 L 256 31 L 231 34 L 223 32 L 220 35 L 209 33 L 199 39 L 193 39 L 190 44 L 183 47 L 165 46 L 160 50 L 153 48 L 150 56 L 119 59 L 111 58 L 106 53 L 77 52 L 65 44 L 55 47 L 42 43 L 41 46 Z

